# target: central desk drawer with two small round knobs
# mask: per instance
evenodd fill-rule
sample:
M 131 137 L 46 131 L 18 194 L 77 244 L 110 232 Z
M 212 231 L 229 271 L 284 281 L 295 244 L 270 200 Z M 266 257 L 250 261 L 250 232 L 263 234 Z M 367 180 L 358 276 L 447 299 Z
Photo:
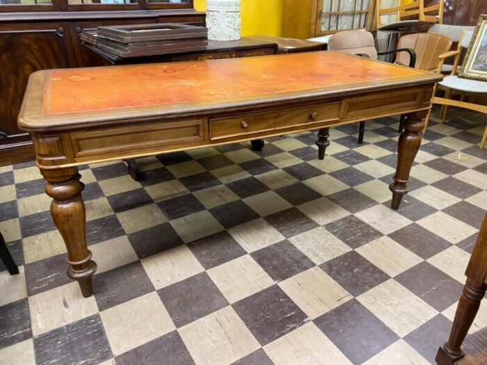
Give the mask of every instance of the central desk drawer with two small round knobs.
M 340 105 L 340 102 L 335 102 L 285 111 L 241 115 L 239 117 L 212 118 L 209 121 L 210 139 L 218 140 L 337 120 L 340 118 Z

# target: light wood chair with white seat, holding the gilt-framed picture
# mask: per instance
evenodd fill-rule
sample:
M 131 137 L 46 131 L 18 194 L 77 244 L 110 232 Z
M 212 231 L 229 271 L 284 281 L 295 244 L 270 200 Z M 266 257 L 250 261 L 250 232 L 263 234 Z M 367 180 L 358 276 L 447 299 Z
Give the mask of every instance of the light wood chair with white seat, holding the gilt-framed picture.
M 472 40 L 472 35 L 473 35 L 473 31 L 463 30 L 458 40 L 457 49 L 455 51 L 450 51 L 440 56 L 441 64 L 440 67 L 438 67 L 438 70 L 436 72 L 441 72 L 443 68 L 442 65 L 445 59 L 449 57 L 455 57 L 454 63 L 452 65 L 452 70 L 449 76 L 446 76 L 445 79 L 442 82 L 438 83 L 436 86 L 436 88 L 445 90 L 445 97 L 433 96 L 433 104 L 442 105 L 442 108 L 440 110 L 440 120 L 442 123 L 445 123 L 449 106 L 457 106 L 458 108 L 465 108 L 471 111 L 478 111 L 480 113 L 487 114 L 486 105 L 463 101 L 463 98 L 465 96 L 467 97 L 486 96 L 487 82 L 480 81 L 480 80 L 461 79 L 460 77 L 456 76 L 456 72 L 458 71 L 458 63 L 461 55 L 461 49 L 468 48 L 468 45 L 470 44 L 470 40 Z M 462 99 L 460 101 L 450 99 L 454 94 L 461 95 Z M 431 115 L 431 111 L 426 117 L 423 133 L 426 132 L 426 127 L 428 127 L 430 115 Z M 487 125 L 486 125 L 486 129 L 484 130 L 484 135 L 481 138 L 481 142 L 479 143 L 480 148 L 485 147 L 486 140 L 487 140 Z

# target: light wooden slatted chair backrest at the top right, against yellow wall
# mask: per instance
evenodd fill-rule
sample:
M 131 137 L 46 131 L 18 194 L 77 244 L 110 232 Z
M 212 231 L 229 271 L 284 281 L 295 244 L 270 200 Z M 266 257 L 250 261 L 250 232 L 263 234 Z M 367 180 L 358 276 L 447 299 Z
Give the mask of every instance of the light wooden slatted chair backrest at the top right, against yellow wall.
M 431 15 L 438 12 L 436 15 Z M 417 16 L 420 22 L 442 23 L 443 22 L 443 0 L 437 0 L 435 4 L 424 6 L 424 0 L 415 0 L 410 3 L 400 4 L 392 8 L 381 8 L 381 0 L 376 0 L 376 26 L 381 28 L 381 16 L 397 13 L 397 22 L 401 22 L 405 17 Z

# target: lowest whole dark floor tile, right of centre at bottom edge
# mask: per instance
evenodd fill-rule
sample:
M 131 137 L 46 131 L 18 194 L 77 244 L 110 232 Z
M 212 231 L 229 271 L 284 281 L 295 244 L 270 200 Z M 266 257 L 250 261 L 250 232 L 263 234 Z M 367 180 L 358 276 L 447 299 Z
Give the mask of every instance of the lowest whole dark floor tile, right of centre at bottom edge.
M 399 339 L 356 299 L 313 322 L 353 364 L 362 364 Z

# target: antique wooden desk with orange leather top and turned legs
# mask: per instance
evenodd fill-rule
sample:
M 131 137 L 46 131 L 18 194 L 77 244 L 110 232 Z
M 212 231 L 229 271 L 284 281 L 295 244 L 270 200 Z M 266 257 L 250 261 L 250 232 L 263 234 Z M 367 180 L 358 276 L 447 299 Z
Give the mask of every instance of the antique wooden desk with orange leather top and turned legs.
M 78 165 L 407 114 L 392 190 L 397 209 L 433 85 L 442 76 L 333 52 L 45 70 L 29 79 L 19 127 L 33 138 L 67 248 L 67 275 L 93 293 Z

